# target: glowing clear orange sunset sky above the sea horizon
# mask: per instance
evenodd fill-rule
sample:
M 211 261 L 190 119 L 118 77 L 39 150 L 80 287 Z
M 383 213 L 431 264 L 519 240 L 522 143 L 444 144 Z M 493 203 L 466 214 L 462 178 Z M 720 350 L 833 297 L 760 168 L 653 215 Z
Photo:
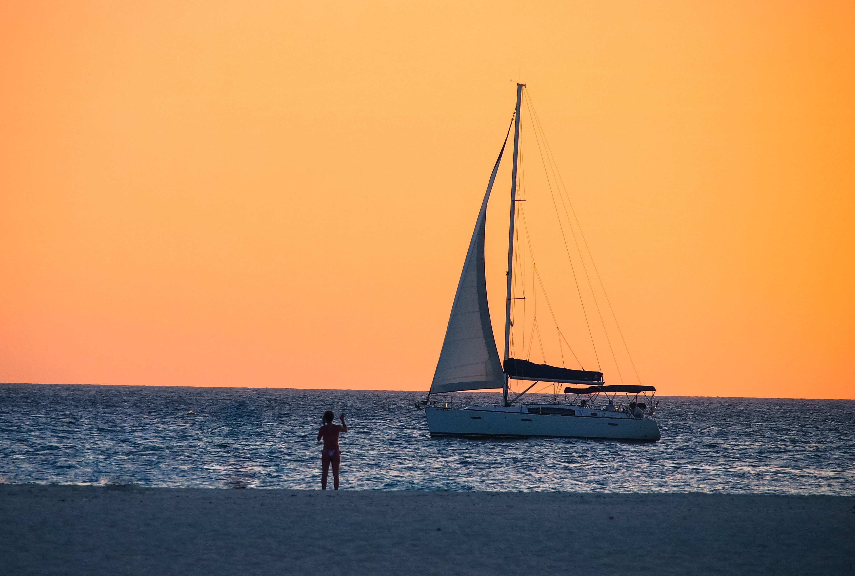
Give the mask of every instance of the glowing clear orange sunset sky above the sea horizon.
M 514 77 L 645 384 L 855 398 L 855 4 L 176 4 L 0 3 L 0 381 L 427 390 Z

